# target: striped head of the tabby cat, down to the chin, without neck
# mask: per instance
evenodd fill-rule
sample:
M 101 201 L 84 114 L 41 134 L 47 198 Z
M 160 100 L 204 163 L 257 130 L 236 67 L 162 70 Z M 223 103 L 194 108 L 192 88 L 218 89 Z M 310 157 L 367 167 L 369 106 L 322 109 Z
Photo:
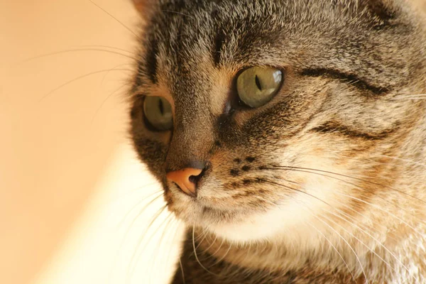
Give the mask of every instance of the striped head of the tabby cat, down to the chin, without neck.
M 386 195 L 400 174 L 386 156 L 403 151 L 423 109 L 398 96 L 425 88 L 418 27 L 401 7 L 153 4 L 131 136 L 170 211 L 250 241 L 302 230 L 335 209 L 356 219 Z

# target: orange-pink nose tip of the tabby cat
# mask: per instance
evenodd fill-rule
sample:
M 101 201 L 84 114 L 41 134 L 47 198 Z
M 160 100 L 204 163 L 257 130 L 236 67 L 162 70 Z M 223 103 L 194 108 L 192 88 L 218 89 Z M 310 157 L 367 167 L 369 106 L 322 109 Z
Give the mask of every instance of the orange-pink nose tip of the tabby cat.
M 196 178 L 202 173 L 202 170 L 196 168 L 184 168 L 168 173 L 166 178 L 170 182 L 175 182 L 182 192 L 192 197 L 197 197 Z

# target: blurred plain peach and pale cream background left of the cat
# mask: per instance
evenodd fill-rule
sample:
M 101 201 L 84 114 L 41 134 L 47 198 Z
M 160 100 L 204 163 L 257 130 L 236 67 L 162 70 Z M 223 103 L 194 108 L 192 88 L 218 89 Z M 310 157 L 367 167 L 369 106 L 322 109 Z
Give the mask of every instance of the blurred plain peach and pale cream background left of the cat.
M 126 133 L 138 17 L 128 0 L 0 0 L 0 283 L 173 273 L 180 225 Z

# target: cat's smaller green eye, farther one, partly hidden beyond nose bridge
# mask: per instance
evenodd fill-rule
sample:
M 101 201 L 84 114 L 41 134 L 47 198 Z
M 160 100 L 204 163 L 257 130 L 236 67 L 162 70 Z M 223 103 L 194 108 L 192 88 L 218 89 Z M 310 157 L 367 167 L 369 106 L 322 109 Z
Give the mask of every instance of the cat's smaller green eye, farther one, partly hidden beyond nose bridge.
M 172 106 L 163 97 L 145 97 L 143 114 L 148 126 L 154 131 L 168 131 L 173 128 Z

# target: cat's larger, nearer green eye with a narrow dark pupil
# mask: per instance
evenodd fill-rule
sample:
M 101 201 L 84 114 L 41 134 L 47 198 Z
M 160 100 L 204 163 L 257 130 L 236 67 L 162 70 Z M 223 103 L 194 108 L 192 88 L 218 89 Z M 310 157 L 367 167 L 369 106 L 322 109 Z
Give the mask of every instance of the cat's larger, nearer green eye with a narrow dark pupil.
M 249 107 L 261 107 L 280 89 L 283 72 L 273 67 L 251 67 L 236 79 L 239 98 Z

